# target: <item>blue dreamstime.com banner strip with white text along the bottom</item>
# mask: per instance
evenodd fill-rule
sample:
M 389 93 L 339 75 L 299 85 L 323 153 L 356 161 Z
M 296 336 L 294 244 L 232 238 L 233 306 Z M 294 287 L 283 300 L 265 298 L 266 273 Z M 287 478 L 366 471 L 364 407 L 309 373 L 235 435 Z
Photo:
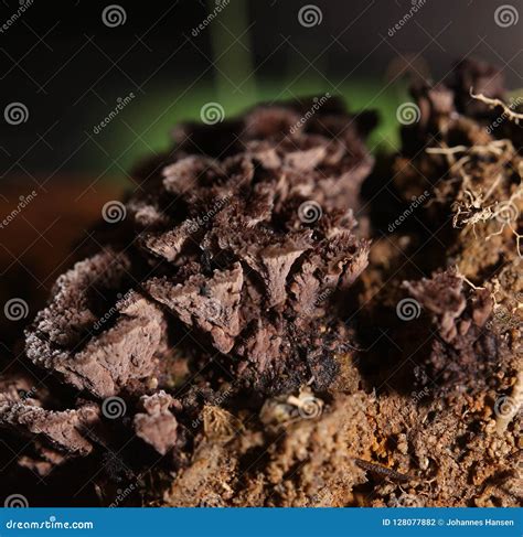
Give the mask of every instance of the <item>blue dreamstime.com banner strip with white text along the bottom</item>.
M 0 536 L 521 537 L 519 508 L 3 508 Z

